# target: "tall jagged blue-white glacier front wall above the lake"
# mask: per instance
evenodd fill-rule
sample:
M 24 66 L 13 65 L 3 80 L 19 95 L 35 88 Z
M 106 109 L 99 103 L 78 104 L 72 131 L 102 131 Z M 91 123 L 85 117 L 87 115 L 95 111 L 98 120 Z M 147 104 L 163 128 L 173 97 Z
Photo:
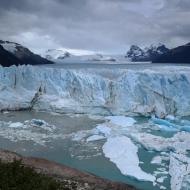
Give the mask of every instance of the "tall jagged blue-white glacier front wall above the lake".
M 0 110 L 104 115 L 190 115 L 190 69 L 65 70 L 0 67 Z

